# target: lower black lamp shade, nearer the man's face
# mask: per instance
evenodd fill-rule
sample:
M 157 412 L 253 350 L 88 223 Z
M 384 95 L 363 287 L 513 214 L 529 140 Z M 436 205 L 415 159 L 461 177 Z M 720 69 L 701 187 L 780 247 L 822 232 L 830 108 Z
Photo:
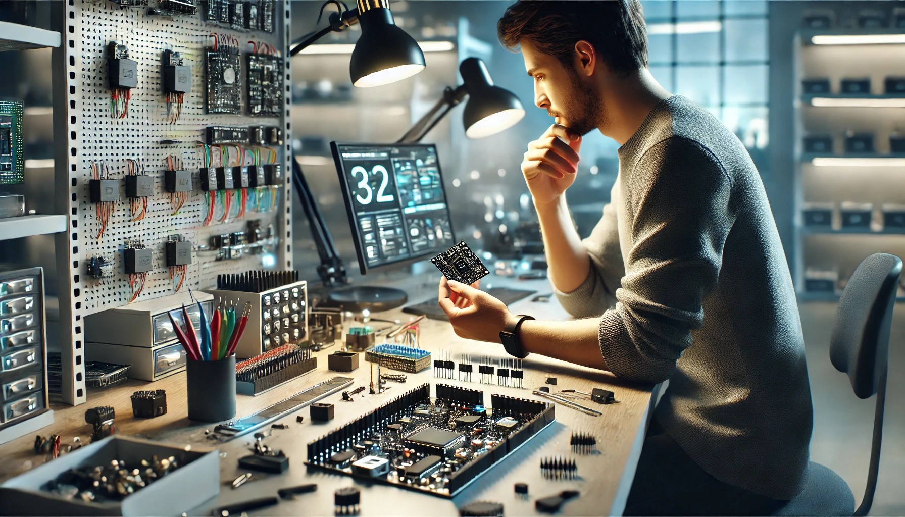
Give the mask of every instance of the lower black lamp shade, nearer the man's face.
M 462 112 L 468 138 L 489 137 L 511 128 L 525 116 L 519 98 L 509 90 L 494 86 L 491 73 L 480 59 L 466 59 L 459 65 L 459 72 L 468 91 L 468 102 Z

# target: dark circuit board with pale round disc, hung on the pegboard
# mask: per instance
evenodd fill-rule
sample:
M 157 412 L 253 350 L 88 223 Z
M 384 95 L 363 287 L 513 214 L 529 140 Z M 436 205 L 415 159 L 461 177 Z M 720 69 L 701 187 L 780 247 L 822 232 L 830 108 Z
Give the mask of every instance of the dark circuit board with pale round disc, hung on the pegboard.
M 207 112 L 239 115 L 243 84 L 239 41 L 226 34 L 213 34 L 213 37 L 214 47 L 205 53 Z

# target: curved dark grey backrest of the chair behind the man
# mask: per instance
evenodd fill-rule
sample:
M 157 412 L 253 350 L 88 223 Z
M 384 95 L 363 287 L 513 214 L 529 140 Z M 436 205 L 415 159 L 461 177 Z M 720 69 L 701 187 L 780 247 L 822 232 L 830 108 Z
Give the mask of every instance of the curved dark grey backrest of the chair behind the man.
M 858 265 L 839 299 L 830 360 L 847 373 L 854 394 L 871 397 L 880 386 L 889 358 L 892 308 L 902 261 L 891 254 L 872 254 Z

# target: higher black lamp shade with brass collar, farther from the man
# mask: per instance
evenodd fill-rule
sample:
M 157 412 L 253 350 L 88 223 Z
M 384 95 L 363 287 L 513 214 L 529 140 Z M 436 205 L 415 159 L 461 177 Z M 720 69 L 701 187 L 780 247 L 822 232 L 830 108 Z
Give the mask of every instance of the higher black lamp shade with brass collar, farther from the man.
M 395 25 L 389 9 L 367 9 L 358 14 L 358 23 L 361 24 L 361 37 L 348 65 L 352 83 L 357 87 L 401 81 L 424 70 L 421 47 Z

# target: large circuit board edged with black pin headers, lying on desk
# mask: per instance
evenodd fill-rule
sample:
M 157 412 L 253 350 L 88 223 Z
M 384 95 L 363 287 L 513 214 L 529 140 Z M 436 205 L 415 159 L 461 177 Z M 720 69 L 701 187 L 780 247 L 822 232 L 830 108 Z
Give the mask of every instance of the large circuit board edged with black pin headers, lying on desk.
M 308 464 L 452 497 L 556 419 L 552 404 L 425 383 L 308 445 Z

